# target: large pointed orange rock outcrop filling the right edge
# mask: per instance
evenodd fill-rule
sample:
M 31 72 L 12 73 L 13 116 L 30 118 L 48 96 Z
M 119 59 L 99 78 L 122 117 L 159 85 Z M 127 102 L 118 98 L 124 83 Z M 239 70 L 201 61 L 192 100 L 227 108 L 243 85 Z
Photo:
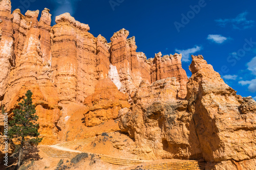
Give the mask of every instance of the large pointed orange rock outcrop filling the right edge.
M 187 100 L 203 158 L 209 162 L 230 160 L 234 167 L 255 158 L 256 102 L 236 95 L 202 56 L 192 58 L 189 68 L 193 75 L 187 84 Z M 225 169 L 224 164 L 218 163 L 215 168 Z M 247 169 L 254 166 L 248 164 Z

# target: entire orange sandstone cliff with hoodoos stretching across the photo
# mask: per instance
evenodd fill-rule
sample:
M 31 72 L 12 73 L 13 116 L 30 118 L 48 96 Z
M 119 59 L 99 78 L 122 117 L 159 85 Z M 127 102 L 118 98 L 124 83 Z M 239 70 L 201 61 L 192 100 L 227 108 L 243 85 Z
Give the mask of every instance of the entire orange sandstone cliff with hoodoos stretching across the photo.
M 49 9 L 38 15 L 0 1 L 0 108 L 11 119 L 30 89 L 41 144 L 121 130 L 143 159 L 255 169 L 256 102 L 237 95 L 202 56 L 192 56 L 188 79 L 181 54 L 147 59 L 125 29 L 108 43 L 69 13 L 53 27 Z

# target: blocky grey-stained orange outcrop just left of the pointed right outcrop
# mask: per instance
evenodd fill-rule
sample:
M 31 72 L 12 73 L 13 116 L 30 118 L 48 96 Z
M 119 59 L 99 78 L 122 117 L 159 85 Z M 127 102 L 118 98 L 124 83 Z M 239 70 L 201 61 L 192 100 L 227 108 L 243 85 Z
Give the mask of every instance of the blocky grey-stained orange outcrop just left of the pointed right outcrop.
M 119 127 L 140 147 L 142 159 L 200 159 L 202 157 L 193 114 L 187 101 L 177 100 L 176 78 L 141 82 L 131 110 L 119 112 Z

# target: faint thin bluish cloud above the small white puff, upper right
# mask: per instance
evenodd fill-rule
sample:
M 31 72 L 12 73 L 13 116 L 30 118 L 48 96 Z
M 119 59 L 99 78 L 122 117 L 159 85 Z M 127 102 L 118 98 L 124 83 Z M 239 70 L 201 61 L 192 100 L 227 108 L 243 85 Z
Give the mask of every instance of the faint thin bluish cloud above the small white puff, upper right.
M 233 29 L 248 29 L 254 26 L 254 20 L 247 20 L 246 16 L 248 15 L 248 12 L 243 12 L 239 14 L 236 18 L 230 18 L 230 19 L 216 19 L 215 21 L 218 23 L 221 27 L 226 27 L 229 23 Z

